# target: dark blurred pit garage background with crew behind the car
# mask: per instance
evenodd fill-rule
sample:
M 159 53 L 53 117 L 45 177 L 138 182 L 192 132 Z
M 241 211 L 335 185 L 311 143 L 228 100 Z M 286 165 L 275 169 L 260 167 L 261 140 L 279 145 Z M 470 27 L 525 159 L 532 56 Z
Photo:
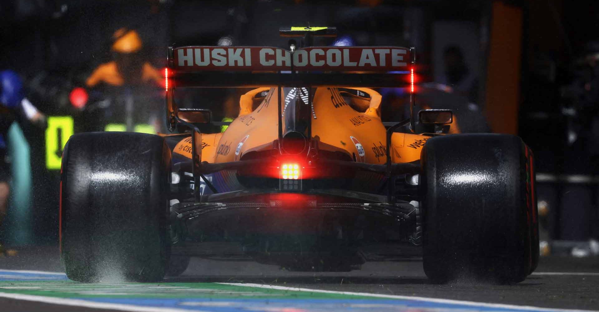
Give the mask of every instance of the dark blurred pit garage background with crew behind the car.
M 595 2 L 564 0 L 3 0 L 0 69 L 20 74 L 46 126 L 11 126 L 2 240 L 17 249 L 58 241 L 69 135 L 164 131 L 157 75 L 169 44 L 285 47 L 280 26 L 311 25 L 338 29 L 317 45 L 416 47 L 419 104 L 452 108 L 462 132 L 516 134 L 534 150 L 541 253 L 599 256 L 597 16 Z M 383 121 L 403 117 L 401 90 L 380 92 Z M 181 101 L 225 119 L 238 95 Z

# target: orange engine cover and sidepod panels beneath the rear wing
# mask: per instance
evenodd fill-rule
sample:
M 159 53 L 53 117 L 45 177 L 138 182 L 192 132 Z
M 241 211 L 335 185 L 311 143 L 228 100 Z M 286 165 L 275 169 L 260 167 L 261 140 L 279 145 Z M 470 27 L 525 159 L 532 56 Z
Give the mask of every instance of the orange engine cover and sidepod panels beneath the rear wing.
M 334 87 L 319 87 L 313 99 L 312 135 L 321 149 L 342 152 L 356 162 L 383 164 L 386 161 L 386 129 L 380 119 L 381 96 L 367 88 L 344 88 L 344 95 Z M 356 94 L 349 95 L 347 90 Z M 261 104 L 252 110 L 255 96 L 268 92 Z M 262 87 L 247 92 L 240 99 L 240 116 L 225 132 L 202 134 L 202 162 L 219 163 L 243 159 L 247 153 L 270 150 L 277 140 L 278 91 Z M 346 103 L 351 97 L 360 106 Z M 333 101 L 337 101 L 336 103 Z M 282 101 L 285 105 L 285 101 Z M 282 108 L 285 111 L 285 107 Z M 394 163 L 415 162 L 430 135 L 394 133 L 391 137 L 391 160 Z M 183 139 L 174 153 L 191 158 L 191 141 Z

